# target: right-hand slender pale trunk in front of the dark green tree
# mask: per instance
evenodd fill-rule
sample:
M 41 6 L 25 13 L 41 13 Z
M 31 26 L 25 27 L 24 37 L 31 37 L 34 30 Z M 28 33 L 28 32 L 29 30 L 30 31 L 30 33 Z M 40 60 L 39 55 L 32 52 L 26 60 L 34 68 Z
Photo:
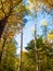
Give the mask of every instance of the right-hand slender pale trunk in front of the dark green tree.
M 35 24 L 35 49 L 36 49 L 36 71 L 39 71 L 39 59 L 37 48 L 37 24 Z

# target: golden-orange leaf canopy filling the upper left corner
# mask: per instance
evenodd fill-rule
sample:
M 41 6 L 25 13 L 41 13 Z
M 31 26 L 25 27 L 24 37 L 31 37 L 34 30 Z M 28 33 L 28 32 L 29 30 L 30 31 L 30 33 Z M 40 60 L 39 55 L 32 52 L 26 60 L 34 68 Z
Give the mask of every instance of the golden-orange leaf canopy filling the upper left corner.
M 17 28 L 23 22 L 24 11 L 22 0 L 0 0 L 0 38 L 6 25 L 10 28 Z

